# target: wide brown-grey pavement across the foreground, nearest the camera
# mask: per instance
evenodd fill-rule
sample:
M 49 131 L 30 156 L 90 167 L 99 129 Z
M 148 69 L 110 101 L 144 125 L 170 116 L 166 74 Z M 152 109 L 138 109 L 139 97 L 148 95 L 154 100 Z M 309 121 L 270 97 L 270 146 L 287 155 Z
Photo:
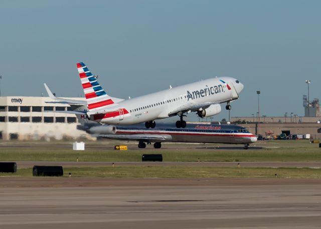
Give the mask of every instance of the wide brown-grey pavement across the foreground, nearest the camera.
M 317 179 L 0 177 L 0 181 L 2 229 L 321 224 Z

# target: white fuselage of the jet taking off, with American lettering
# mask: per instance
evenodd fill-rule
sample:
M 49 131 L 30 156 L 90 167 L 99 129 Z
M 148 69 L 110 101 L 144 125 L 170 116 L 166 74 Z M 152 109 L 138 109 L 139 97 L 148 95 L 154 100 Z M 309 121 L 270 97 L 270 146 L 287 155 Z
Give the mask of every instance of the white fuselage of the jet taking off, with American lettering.
M 172 112 L 180 107 L 182 111 L 191 112 L 202 109 L 203 104 L 206 108 L 211 104 L 235 100 L 242 89 L 243 84 L 234 78 L 215 77 L 120 101 L 108 107 L 108 110 L 119 112 L 94 115 L 91 119 L 115 125 L 131 125 L 163 119 L 177 115 L 177 112 Z

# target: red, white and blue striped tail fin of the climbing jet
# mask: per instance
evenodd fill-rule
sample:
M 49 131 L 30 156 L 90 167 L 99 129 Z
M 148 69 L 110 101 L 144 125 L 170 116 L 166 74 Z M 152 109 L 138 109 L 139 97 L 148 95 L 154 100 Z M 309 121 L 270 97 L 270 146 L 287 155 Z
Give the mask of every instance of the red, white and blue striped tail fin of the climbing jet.
M 115 104 L 110 96 L 102 89 L 97 77 L 92 75 L 83 62 L 77 63 L 78 73 L 84 89 L 89 111 L 104 109 Z

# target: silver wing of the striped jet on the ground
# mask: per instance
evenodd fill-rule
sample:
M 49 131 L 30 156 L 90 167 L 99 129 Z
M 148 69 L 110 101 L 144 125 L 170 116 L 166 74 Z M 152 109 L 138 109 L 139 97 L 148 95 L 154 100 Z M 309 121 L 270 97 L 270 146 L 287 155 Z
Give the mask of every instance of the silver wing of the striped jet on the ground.
M 131 140 L 131 141 L 172 141 L 173 138 L 169 134 L 94 134 L 94 137 L 109 138 L 114 140 Z

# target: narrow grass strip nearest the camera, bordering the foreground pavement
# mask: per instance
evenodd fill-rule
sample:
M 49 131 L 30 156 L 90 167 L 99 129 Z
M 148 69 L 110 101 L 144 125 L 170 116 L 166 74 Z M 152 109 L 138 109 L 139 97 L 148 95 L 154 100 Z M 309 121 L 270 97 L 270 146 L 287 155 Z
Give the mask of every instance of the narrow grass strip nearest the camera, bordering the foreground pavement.
M 123 177 L 123 178 L 321 178 L 316 168 L 237 168 L 237 167 L 182 167 L 182 166 L 104 166 L 66 167 L 68 177 Z M 1 175 L 1 174 L 0 174 Z M 32 168 L 18 169 L 17 173 L 2 176 L 32 176 Z

